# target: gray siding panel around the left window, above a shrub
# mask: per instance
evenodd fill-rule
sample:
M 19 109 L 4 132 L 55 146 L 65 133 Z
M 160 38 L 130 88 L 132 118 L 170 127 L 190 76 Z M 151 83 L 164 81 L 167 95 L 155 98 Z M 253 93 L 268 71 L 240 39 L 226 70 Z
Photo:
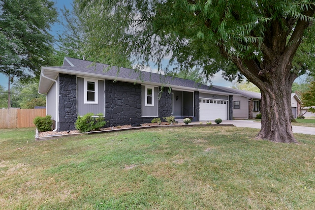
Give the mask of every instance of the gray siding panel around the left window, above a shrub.
M 98 104 L 84 104 L 84 78 L 77 78 L 77 109 L 78 115 L 83 116 L 89 112 L 104 114 L 104 81 L 98 80 Z

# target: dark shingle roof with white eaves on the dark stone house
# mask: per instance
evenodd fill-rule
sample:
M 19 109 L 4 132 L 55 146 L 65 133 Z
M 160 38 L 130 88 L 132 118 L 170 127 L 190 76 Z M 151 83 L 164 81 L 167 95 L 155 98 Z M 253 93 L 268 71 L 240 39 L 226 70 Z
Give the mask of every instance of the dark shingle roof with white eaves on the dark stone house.
M 64 58 L 63 66 L 42 67 L 38 91 L 47 93 L 58 73 L 72 74 L 77 76 L 91 76 L 95 78 L 118 80 L 123 82 L 140 83 L 145 85 L 157 85 L 172 87 L 183 90 L 198 90 L 204 92 L 221 92 L 224 95 L 234 95 L 235 93 L 222 89 L 220 86 L 207 86 L 196 83 L 192 80 L 178 77 L 165 76 L 158 73 L 136 71 L 129 68 L 118 68 L 103 63 L 93 63 L 92 61 Z

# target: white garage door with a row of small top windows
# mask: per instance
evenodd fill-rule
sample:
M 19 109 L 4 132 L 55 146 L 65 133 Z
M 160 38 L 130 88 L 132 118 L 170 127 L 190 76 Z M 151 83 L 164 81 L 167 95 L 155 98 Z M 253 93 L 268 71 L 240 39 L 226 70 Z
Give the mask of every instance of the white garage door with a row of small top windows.
M 227 101 L 200 98 L 199 113 L 199 120 L 227 120 Z

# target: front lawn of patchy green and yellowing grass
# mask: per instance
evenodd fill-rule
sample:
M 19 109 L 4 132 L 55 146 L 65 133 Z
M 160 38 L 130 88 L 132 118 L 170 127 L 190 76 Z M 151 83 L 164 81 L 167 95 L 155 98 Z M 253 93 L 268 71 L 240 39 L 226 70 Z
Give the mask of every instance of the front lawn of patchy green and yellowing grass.
M 0 130 L 0 209 L 314 209 L 315 138 L 169 127 L 34 141 Z

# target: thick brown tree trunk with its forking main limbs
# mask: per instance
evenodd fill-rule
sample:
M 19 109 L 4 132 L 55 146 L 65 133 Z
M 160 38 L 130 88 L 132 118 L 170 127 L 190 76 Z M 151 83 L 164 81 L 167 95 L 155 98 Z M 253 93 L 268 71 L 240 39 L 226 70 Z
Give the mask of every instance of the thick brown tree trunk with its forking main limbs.
M 302 7 L 303 15 L 314 16 L 313 5 Z M 238 20 L 240 17 L 237 11 L 235 14 L 234 17 Z M 275 19 L 271 16 L 270 21 L 263 24 L 265 30 L 261 42 L 249 43 L 246 39 L 236 38 L 235 42 L 239 42 L 239 45 L 233 42 L 231 46 L 226 46 L 228 41 L 222 39 L 218 42 L 218 47 L 221 55 L 231 59 L 239 71 L 261 91 L 261 130 L 256 138 L 273 142 L 298 143 L 293 136 L 291 126 L 291 88 L 299 71 L 293 68 L 292 61 L 304 38 L 304 32 L 313 19 L 299 18 L 286 13 L 283 17 Z M 208 23 L 211 23 L 211 20 Z M 205 26 L 211 29 L 209 24 Z M 255 32 L 260 34 L 260 30 L 260 28 L 258 31 L 253 29 L 251 35 L 255 36 Z M 213 32 L 217 33 L 216 30 Z M 234 47 L 235 52 L 239 51 L 239 53 L 230 52 Z

